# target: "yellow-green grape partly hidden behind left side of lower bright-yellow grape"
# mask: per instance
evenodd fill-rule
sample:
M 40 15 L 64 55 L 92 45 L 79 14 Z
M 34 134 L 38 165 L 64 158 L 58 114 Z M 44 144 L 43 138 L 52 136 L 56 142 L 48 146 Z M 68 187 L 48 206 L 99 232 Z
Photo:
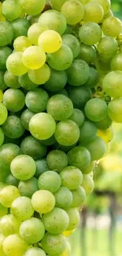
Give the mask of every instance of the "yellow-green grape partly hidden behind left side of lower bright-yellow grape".
M 6 67 L 15 76 L 22 76 L 28 72 L 28 68 L 23 64 L 22 57 L 23 54 L 21 52 L 14 52 L 7 58 Z

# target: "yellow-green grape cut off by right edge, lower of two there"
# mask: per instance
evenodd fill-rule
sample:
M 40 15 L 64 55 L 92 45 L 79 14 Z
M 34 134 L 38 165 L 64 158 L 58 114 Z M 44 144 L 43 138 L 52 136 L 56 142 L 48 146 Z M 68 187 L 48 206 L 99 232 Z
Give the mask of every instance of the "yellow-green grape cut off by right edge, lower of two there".
M 109 102 L 108 115 L 112 121 L 122 123 L 122 98 L 114 98 Z

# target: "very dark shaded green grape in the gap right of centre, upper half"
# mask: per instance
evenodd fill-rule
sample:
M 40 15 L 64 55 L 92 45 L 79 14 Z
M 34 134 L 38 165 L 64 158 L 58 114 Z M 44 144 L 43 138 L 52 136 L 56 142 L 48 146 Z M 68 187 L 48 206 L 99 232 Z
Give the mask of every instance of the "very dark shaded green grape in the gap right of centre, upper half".
M 91 95 L 91 89 L 85 86 L 69 87 L 68 89 L 68 97 L 77 109 L 82 109 L 88 100 L 91 99 Z

